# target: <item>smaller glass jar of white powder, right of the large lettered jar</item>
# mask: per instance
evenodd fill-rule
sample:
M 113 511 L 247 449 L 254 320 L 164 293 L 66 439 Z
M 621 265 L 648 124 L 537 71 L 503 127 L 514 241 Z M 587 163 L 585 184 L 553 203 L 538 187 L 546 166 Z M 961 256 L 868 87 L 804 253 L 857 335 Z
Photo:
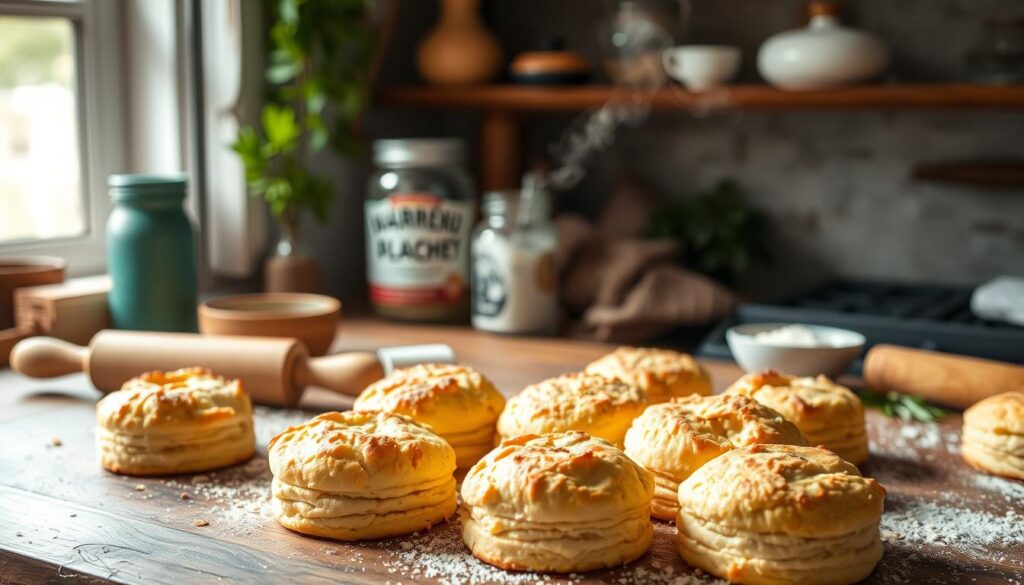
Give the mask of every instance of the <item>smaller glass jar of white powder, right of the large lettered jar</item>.
M 558 330 L 555 248 L 546 192 L 529 199 L 515 190 L 483 197 L 473 232 L 473 327 L 511 334 Z

